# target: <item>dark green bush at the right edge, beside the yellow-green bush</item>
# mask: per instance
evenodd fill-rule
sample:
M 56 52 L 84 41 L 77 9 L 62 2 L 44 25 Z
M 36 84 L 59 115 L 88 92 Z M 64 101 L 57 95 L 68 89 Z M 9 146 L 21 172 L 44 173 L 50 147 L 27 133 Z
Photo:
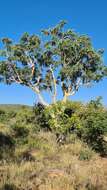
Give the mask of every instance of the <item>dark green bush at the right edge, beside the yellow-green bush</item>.
M 97 152 L 107 154 L 107 144 L 103 141 L 103 136 L 107 133 L 107 110 L 98 102 L 96 104 L 96 101 L 91 101 L 81 120 L 82 139 Z

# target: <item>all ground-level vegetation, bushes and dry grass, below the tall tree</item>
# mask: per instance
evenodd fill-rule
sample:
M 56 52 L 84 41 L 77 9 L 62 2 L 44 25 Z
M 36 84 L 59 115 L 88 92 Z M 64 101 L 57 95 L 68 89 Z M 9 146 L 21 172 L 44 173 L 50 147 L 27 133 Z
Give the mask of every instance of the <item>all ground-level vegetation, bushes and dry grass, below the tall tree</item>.
M 0 189 L 106 190 L 106 124 L 100 97 L 0 106 Z

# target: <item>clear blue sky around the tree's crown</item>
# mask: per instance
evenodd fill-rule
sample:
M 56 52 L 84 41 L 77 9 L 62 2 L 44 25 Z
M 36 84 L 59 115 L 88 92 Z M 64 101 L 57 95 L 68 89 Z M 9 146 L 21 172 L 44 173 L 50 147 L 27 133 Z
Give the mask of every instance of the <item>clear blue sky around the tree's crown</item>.
M 18 40 L 25 31 L 38 33 L 43 28 L 67 20 L 68 27 L 88 34 L 95 48 L 104 48 L 107 62 L 107 0 L 1 0 L 0 38 Z M 107 79 L 92 88 L 82 88 L 73 100 L 89 101 L 102 96 L 107 105 Z M 36 101 L 26 87 L 0 84 L 0 104 L 28 104 Z

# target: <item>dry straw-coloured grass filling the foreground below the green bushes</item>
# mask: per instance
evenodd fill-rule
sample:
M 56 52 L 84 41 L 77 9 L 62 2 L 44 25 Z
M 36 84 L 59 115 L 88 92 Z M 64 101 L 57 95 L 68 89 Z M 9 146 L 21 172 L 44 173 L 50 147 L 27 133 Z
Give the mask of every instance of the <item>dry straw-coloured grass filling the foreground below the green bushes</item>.
M 107 160 L 79 140 L 59 146 L 51 133 L 38 134 L 40 147 L 29 150 L 34 161 L 1 163 L 1 190 L 107 190 Z M 81 151 L 89 160 L 80 160 Z M 27 151 L 18 147 L 15 154 Z M 84 157 L 83 157 L 84 158 Z

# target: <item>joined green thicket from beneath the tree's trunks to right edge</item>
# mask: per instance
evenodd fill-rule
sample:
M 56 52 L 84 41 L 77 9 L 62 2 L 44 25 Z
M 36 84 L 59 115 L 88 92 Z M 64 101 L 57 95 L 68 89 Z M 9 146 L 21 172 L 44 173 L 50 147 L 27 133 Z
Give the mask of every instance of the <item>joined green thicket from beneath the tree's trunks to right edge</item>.
M 48 128 L 54 133 L 75 134 L 101 155 L 107 154 L 107 143 L 103 140 L 107 134 L 107 109 L 100 97 L 86 105 L 58 102 L 45 108 L 43 115 Z

